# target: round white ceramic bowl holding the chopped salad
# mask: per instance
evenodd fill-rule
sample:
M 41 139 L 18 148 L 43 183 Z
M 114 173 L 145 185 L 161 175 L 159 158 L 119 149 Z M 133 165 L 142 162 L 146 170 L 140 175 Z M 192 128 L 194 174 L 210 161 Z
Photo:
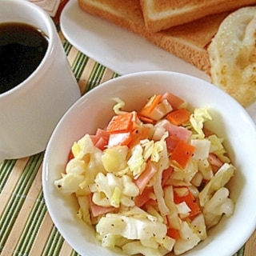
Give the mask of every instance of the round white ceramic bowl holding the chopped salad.
M 186 99 L 193 107 L 208 106 L 214 121 L 210 128 L 226 138 L 226 148 L 237 166 L 230 197 L 234 215 L 209 231 L 209 237 L 185 255 L 230 256 L 250 238 L 256 223 L 256 130 L 242 106 L 210 83 L 185 74 L 155 71 L 114 78 L 80 98 L 54 130 L 43 162 L 42 185 L 46 206 L 55 226 L 79 254 L 88 256 L 121 255 L 103 248 L 94 238 L 94 230 L 74 217 L 74 198 L 62 196 L 54 188 L 60 178 L 73 142 L 84 134 L 104 127 L 113 115 L 113 97 L 126 102 L 126 110 L 138 109 L 145 98 L 170 91 Z

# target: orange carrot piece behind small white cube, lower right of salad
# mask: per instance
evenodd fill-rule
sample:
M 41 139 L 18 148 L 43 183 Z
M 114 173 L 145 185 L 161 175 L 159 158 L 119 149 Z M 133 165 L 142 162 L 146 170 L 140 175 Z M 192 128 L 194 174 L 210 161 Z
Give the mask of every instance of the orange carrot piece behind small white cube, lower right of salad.
M 190 207 L 190 218 L 194 218 L 196 215 L 201 213 L 201 209 L 198 206 L 198 203 L 196 201 L 196 199 L 194 198 L 194 195 L 190 192 L 190 190 L 188 190 L 188 193 L 184 196 L 178 196 L 177 193 L 175 193 L 174 190 L 174 202 L 176 204 L 179 204 L 181 202 L 186 202 L 186 205 Z

